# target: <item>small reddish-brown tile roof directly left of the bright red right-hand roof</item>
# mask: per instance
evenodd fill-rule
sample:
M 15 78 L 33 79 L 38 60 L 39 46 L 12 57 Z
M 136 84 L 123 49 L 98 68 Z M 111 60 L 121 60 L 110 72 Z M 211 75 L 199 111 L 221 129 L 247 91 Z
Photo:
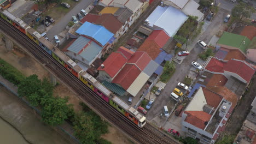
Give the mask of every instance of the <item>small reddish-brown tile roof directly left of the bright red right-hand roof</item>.
M 213 74 L 206 87 L 224 86 L 228 79 L 222 74 Z

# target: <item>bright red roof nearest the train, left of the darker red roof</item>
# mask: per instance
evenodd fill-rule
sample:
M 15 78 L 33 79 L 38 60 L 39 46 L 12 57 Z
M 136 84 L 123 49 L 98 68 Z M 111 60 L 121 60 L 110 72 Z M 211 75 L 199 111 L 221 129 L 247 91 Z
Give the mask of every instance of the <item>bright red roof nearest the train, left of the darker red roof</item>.
M 109 57 L 104 61 L 104 68 L 98 67 L 98 70 L 104 70 L 110 77 L 114 77 L 118 71 L 123 67 L 126 63 L 127 59 L 121 54 L 117 52 L 112 52 Z

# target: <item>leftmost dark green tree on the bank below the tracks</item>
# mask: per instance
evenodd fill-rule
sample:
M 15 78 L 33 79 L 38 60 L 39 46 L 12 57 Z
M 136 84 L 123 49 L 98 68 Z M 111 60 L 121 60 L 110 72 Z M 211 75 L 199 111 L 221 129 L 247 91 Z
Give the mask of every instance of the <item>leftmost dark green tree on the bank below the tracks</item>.
M 30 95 L 39 91 L 41 81 L 37 75 L 30 75 L 22 80 L 18 85 L 18 94 L 20 97 L 29 97 Z

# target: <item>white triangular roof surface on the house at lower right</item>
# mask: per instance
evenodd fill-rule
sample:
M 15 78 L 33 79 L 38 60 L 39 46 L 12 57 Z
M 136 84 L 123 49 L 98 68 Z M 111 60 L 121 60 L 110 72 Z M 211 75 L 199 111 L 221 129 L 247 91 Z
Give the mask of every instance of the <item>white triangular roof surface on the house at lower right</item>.
M 185 111 L 203 111 L 203 106 L 206 104 L 205 95 L 200 87 Z

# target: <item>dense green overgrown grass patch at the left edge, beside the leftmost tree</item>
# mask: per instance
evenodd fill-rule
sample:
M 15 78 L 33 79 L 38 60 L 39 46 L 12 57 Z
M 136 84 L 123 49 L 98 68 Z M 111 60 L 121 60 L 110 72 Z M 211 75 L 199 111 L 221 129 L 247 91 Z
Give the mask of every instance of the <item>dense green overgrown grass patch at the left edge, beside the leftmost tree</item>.
M 22 80 L 25 79 L 18 69 L 14 68 L 12 65 L 5 62 L 0 58 L 0 74 L 8 81 L 14 83 L 14 85 L 19 85 Z

